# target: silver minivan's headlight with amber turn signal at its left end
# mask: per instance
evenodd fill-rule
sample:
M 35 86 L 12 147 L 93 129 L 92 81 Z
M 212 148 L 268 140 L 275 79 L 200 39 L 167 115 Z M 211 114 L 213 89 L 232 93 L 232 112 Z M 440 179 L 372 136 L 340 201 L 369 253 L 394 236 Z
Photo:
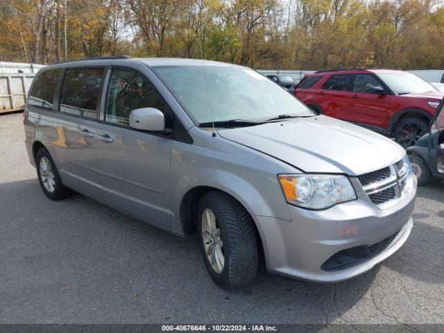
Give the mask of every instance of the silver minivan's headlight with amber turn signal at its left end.
M 350 180 L 340 175 L 280 175 L 282 191 L 291 205 L 325 210 L 337 203 L 356 200 Z

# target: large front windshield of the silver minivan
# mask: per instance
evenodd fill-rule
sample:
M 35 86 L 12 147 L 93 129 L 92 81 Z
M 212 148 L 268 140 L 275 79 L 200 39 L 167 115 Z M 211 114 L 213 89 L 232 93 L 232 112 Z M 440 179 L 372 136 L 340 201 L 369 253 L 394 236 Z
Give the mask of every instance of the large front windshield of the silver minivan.
M 178 65 L 151 69 L 198 123 L 314 115 L 295 96 L 246 67 Z

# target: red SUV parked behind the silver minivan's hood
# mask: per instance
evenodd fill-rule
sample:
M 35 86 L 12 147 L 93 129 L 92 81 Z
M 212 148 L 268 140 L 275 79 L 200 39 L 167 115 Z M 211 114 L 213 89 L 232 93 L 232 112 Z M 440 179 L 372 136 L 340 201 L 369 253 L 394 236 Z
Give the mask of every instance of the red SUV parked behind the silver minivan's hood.
M 315 112 L 395 137 L 404 148 L 428 132 L 444 96 L 414 74 L 389 69 L 316 71 L 295 94 Z

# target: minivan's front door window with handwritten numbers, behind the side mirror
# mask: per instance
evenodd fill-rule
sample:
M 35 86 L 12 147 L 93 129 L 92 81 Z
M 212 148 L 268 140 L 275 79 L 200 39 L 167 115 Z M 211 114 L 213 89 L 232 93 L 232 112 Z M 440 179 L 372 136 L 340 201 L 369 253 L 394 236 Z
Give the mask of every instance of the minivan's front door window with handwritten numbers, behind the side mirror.
M 151 82 L 137 71 L 112 71 L 105 120 L 129 126 L 130 112 L 139 108 L 156 108 L 164 112 L 164 101 Z

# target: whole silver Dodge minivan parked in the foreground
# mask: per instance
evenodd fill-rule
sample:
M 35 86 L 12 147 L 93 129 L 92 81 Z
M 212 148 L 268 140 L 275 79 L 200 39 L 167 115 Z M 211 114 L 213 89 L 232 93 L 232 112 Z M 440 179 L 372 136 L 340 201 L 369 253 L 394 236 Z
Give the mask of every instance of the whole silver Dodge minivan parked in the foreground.
M 403 148 L 314 114 L 247 67 L 60 63 L 39 71 L 24 115 L 46 196 L 74 190 L 174 234 L 197 233 L 223 288 L 252 282 L 262 256 L 291 278 L 352 278 L 395 253 L 413 226 L 416 179 Z

